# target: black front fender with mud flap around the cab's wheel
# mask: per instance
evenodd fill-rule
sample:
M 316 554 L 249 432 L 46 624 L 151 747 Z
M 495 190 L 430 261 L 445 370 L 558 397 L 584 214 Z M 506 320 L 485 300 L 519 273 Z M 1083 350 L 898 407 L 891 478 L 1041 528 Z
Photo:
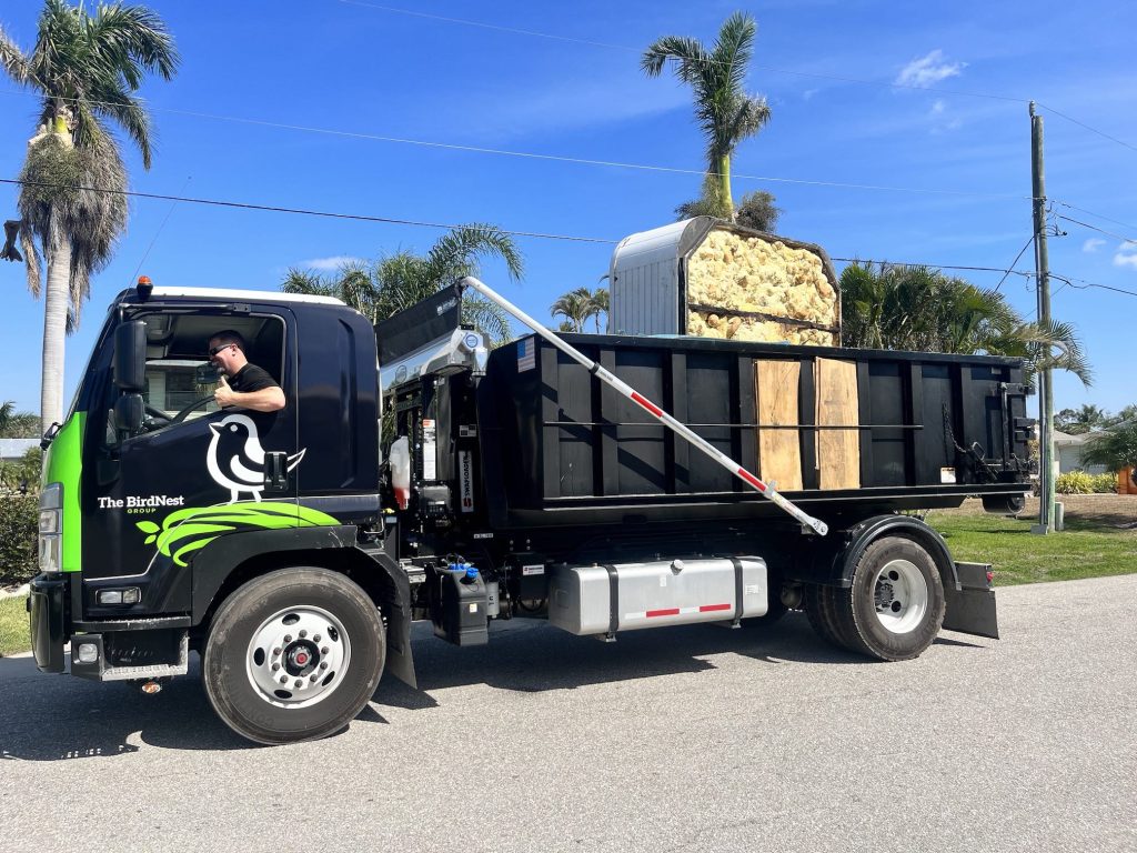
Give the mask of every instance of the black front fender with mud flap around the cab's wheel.
M 351 524 L 254 530 L 214 539 L 194 555 L 191 563 L 192 624 L 201 624 L 218 593 L 241 566 L 257 558 L 275 561 L 289 552 L 319 552 L 325 557 L 334 554 L 334 568 L 346 570 L 373 598 L 384 605 L 383 614 L 388 622 L 387 668 L 400 681 L 417 687 L 410 655 L 410 581 L 381 545 L 373 548 L 360 547 L 357 543 L 357 528 Z M 263 565 L 268 569 L 267 564 Z M 373 571 L 382 572 L 387 582 L 374 582 L 376 578 Z

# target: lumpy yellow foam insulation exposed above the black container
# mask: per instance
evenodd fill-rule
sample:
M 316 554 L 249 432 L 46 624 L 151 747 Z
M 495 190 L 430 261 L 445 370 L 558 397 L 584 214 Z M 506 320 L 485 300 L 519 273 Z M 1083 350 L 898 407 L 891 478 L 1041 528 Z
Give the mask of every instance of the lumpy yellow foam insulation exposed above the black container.
M 731 312 L 754 312 L 837 326 L 837 300 L 821 258 L 780 240 L 712 231 L 687 264 L 687 301 L 721 308 L 688 312 L 688 334 L 836 346 L 837 336 L 832 332 Z

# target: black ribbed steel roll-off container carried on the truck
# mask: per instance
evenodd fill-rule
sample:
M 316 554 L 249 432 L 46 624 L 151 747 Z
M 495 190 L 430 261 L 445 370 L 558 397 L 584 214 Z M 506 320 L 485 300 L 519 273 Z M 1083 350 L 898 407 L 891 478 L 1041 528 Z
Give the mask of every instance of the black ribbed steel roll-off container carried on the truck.
M 772 450 L 763 452 L 760 437 L 779 433 L 780 453 L 796 453 L 800 471 L 799 482 L 780 490 L 814 513 L 841 513 L 850 503 L 857 513 L 955 506 L 968 495 L 1024 490 L 1029 423 L 1018 359 L 698 338 L 563 338 L 750 471 L 777 467 L 764 458 Z M 833 364 L 855 400 L 852 421 L 837 425 L 819 423 L 819 370 Z M 769 368 L 796 379 L 778 389 L 796 397 L 791 416 L 782 406 L 779 423 L 758 417 L 771 392 L 756 376 Z M 779 513 L 540 338 L 495 350 L 476 399 L 493 528 Z M 838 433 L 855 438 L 844 445 L 848 470 L 830 477 L 827 442 Z

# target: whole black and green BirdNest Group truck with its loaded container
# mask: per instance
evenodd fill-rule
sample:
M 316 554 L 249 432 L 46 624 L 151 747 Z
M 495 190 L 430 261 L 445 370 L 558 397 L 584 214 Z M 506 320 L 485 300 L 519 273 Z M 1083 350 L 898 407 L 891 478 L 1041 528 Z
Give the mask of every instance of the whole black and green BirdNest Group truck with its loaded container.
M 888 661 L 997 636 L 989 566 L 905 511 L 1021 508 L 1018 361 L 545 330 L 491 350 L 458 322 L 471 287 L 495 297 L 467 279 L 377 328 L 330 298 L 121 293 L 45 439 L 39 668 L 155 691 L 196 651 L 219 717 L 279 744 L 341 729 L 384 668 L 413 686 L 414 620 L 464 646 L 516 616 L 612 640 L 803 608 Z M 283 409 L 216 408 L 218 330 Z

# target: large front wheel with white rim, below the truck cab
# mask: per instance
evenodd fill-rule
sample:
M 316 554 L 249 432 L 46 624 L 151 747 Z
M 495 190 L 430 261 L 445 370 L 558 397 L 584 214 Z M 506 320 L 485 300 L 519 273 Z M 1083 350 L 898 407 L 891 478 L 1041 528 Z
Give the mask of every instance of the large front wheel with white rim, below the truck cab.
M 214 711 L 242 737 L 316 740 L 366 706 L 385 654 L 379 612 L 356 583 L 326 569 L 284 569 L 217 610 L 202 679 Z

